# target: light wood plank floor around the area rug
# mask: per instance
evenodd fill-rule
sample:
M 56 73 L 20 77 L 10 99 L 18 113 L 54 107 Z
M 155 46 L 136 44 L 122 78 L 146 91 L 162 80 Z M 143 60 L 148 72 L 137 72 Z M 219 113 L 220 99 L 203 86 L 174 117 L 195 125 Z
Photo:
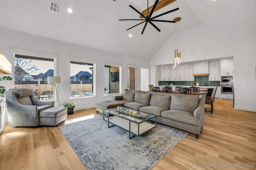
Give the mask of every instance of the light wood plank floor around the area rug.
M 256 169 L 256 113 L 232 106 L 232 101 L 216 100 L 213 114 L 205 112 L 199 139 L 189 133 L 152 170 Z M 68 119 L 91 114 L 95 108 L 75 111 Z M 16 169 L 86 170 L 57 126 L 6 123 L 0 134 L 0 170 Z

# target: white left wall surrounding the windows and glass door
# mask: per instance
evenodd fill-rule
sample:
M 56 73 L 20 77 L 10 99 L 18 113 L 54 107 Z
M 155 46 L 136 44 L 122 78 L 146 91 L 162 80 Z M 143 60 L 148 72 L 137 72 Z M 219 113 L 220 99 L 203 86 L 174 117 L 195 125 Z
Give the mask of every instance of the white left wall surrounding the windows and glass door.
M 97 61 L 95 70 L 96 97 L 72 99 L 71 101 L 78 102 L 75 110 L 95 107 L 96 102 L 112 100 L 112 96 L 104 96 L 104 62 L 122 66 L 122 91 L 126 88 L 127 84 L 128 63 L 138 67 L 138 90 L 140 90 L 140 68 L 149 68 L 149 61 L 134 57 L 38 37 L 10 29 L 1 28 L 0 31 L 0 50 L 10 61 L 12 66 L 14 66 L 14 57 L 12 54 L 13 47 L 58 55 L 59 63 L 56 65 L 56 71 L 58 72 L 57 76 L 61 76 L 62 78 L 62 83 L 58 84 L 58 97 L 60 103 L 64 100 L 68 100 L 68 91 L 70 90 L 70 69 L 68 69 L 70 67 L 69 56 L 84 57 Z M 14 78 L 14 72 L 12 72 L 12 75 L 10 76 Z M 12 81 L 2 81 L 0 83 L 1 86 L 6 86 L 6 90 L 14 88 L 14 79 Z M 120 93 L 122 93 L 122 91 Z

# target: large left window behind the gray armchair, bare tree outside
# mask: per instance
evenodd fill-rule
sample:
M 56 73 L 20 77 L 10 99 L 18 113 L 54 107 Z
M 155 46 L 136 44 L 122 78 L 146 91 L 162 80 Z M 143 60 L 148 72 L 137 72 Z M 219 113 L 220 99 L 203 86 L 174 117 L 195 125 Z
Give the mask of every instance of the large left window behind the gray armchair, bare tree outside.
M 33 89 L 36 98 L 42 97 L 43 92 L 52 91 L 52 84 L 48 84 L 47 77 L 54 76 L 54 59 L 28 55 L 15 55 L 15 88 Z

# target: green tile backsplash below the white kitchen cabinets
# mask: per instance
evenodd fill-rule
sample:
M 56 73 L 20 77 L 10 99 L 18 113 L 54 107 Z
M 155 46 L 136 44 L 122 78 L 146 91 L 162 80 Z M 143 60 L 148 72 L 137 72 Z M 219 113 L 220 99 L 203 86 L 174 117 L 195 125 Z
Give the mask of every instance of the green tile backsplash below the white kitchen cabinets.
M 158 81 L 158 86 L 174 85 L 193 86 L 193 81 Z M 220 86 L 220 81 L 209 81 L 209 76 L 195 76 L 195 84 L 199 86 Z

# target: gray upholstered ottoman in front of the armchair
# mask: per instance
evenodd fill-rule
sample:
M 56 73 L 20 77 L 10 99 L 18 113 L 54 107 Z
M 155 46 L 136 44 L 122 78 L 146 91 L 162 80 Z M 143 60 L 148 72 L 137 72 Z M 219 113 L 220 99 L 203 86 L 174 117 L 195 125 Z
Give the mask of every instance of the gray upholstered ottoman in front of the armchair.
M 68 117 L 67 107 L 50 107 L 39 113 L 39 125 L 56 126 Z

